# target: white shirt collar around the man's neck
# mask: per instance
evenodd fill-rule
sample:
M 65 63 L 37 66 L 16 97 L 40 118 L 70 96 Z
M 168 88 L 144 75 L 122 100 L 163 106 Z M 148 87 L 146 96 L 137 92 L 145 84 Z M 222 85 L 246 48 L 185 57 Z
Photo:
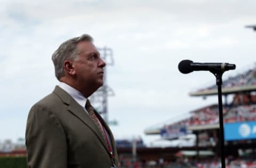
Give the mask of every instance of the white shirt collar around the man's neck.
M 86 103 L 87 99 L 78 90 L 67 85 L 64 82 L 60 82 L 59 87 L 65 91 L 67 91 L 67 93 L 71 97 L 73 97 L 79 105 L 81 105 L 82 107 L 85 107 L 85 103 Z

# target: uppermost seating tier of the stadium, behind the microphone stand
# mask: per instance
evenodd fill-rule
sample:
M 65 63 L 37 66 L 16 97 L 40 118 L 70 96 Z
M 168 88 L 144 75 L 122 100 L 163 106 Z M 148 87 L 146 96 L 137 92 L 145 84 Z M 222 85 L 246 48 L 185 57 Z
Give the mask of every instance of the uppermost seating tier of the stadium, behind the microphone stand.
M 247 91 L 256 91 L 256 68 L 237 74 L 235 77 L 230 77 L 222 82 L 222 94 L 235 94 Z M 210 96 L 217 94 L 217 85 L 189 93 L 190 96 Z

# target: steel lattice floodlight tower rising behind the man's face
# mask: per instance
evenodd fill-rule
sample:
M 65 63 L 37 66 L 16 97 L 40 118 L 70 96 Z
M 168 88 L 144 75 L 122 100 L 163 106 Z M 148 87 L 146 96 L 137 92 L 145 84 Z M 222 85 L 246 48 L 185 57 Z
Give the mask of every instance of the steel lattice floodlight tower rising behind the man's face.
M 103 86 L 100 87 L 95 93 L 90 96 L 90 101 L 95 107 L 95 110 L 99 112 L 103 119 L 108 121 L 108 96 L 114 96 L 114 91 L 107 85 L 107 66 L 114 65 L 113 51 L 111 48 L 103 47 L 97 48 L 100 52 L 102 60 L 106 62 L 103 75 Z

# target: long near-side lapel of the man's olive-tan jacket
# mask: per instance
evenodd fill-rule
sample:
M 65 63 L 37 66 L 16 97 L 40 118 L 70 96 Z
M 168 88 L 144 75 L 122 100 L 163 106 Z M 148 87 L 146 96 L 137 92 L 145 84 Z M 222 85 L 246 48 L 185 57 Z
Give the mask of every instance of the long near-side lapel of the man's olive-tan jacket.
M 107 143 L 103 138 L 97 125 L 91 120 L 90 116 L 86 114 L 83 107 L 79 105 L 73 97 L 71 97 L 65 90 L 61 89 L 59 86 L 56 86 L 53 93 L 57 94 L 63 101 L 63 103 L 68 105 L 68 111 L 73 113 L 79 120 L 86 124 L 99 138 L 101 144 L 108 151 Z

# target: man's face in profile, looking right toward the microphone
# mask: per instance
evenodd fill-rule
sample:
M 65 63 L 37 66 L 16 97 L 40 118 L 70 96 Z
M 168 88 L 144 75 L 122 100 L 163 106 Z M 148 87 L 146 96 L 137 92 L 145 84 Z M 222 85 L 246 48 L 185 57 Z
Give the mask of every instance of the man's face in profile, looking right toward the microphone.
M 98 89 L 103 85 L 103 67 L 106 63 L 100 58 L 97 48 L 90 41 L 77 44 L 77 57 L 73 65 L 79 88 Z M 86 88 L 83 88 L 86 89 Z

